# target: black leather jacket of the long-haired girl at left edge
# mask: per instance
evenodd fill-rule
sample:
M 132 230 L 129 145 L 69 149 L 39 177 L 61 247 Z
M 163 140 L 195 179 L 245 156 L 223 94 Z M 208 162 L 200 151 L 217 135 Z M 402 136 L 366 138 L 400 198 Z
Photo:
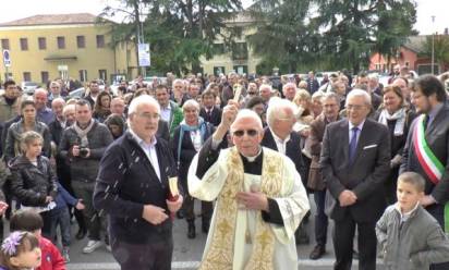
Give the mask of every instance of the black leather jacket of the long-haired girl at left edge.
M 44 156 L 37 158 L 35 167 L 24 156 L 11 160 L 11 188 L 24 206 L 45 206 L 46 197 L 56 197 L 57 179 L 51 171 L 50 161 Z

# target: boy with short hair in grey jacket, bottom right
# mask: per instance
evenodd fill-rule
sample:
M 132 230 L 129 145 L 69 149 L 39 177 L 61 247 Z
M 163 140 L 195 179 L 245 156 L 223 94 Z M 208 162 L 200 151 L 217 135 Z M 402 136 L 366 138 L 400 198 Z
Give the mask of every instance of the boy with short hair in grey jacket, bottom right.
M 398 202 L 376 224 L 377 241 L 387 270 L 423 270 L 449 260 L 449 240 L 421 206 L 424 179 L 414 172 L 399 176 Z

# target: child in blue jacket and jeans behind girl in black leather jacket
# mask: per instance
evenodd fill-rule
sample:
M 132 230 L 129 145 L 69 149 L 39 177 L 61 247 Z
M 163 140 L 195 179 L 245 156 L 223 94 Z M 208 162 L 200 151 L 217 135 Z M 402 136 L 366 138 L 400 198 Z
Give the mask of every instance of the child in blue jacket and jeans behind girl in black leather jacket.
M 70 262 L 69 246 L 71 243 L 70 210 L 68 205 L 74 206 L 77 210 L 83 210 L 84 205 L 81 199 L 75 199 L 58 182 L 58 195 L 54 199 L 56 207 L 50 210 L 51 216 L 51 241 L 56 240 L 58 225 L 61 230 L 62 257 L 65 262 Z M 56 243 L 54 243 L 56 244 Z

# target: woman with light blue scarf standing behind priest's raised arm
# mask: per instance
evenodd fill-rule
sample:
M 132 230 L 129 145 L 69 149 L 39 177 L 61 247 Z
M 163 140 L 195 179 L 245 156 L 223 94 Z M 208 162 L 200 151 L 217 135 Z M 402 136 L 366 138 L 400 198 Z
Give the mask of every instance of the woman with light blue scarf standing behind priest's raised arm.
M 178 175 L 186 197 L 184 199 L 183 211 L 187 220 L 187 237 L 195 238 L 195 213 L 194 198 L 189 195 L 187 172 L 193 157 L 199 151 L 206 139 L 214 133 L 214 125 L 207 123 L 199 116 L 199 105 L 193 99 L 189 99 L 182 106 L 184 120 L 174 128 L 171 140 L 174 160 L 178 162 Z M 203 232 L 209 230 L 213 214 L 213 202 L 202 201 Z

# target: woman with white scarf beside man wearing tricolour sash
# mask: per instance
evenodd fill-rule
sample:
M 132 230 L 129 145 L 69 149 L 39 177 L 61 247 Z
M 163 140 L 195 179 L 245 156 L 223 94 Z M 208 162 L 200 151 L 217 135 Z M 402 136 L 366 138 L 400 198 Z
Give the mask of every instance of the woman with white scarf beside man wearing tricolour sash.
M 405 106 L 405 100 L 402 96 L 399 86 L 384 87 L 384 102 L 376 113 L 375 119 L 388 126 L 390 131 L 391 142 L 391 161 L 390 175 L 385 183 L 385 192 L 388 205 L 395 204 L 396 186 L 401 164 L 402 150 L 405 145 L 409 134 L 410 124 L 412 123 L 415 113 Z

